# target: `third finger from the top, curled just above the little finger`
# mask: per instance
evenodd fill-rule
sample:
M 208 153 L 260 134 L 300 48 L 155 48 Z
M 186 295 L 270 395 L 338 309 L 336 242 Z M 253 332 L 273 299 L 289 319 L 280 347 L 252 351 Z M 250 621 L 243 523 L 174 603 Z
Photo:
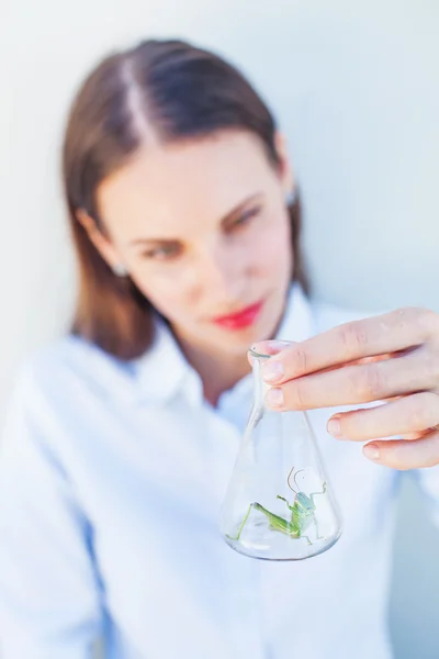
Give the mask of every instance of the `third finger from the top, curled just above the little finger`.
M 436 393 L 415 393 L 368 410 L 335 414 L 327 429 L 334 437 L 364 442 L 375 437 L 403 435 L 418 439 L 427 428 L 439 424 L 439 396 Z

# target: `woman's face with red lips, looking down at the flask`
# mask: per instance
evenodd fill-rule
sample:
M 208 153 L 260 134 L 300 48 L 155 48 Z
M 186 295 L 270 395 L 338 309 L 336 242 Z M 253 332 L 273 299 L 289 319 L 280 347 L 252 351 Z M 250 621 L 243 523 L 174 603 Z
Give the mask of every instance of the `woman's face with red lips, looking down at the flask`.
M 291 188 L 286 160 L 277 171 L 245 132 L 148 146 L 98 190 L 109 235 L 98 247 L 181 340 L 245 353 L 282 316 Z

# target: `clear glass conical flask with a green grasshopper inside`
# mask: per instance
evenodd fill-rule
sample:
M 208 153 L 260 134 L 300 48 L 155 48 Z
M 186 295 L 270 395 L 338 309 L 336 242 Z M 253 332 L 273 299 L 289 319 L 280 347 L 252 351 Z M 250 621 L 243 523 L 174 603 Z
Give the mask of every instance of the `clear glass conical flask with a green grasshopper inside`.
M 233 549 L 251 558 L 309 558 L 340 537 L 338 505 L 306 412 L 274 412 L 264 404 L 270 387 L 261 364 L 270 355 L 250 354 L 254 405 L 223 502 L 221 532 Z

